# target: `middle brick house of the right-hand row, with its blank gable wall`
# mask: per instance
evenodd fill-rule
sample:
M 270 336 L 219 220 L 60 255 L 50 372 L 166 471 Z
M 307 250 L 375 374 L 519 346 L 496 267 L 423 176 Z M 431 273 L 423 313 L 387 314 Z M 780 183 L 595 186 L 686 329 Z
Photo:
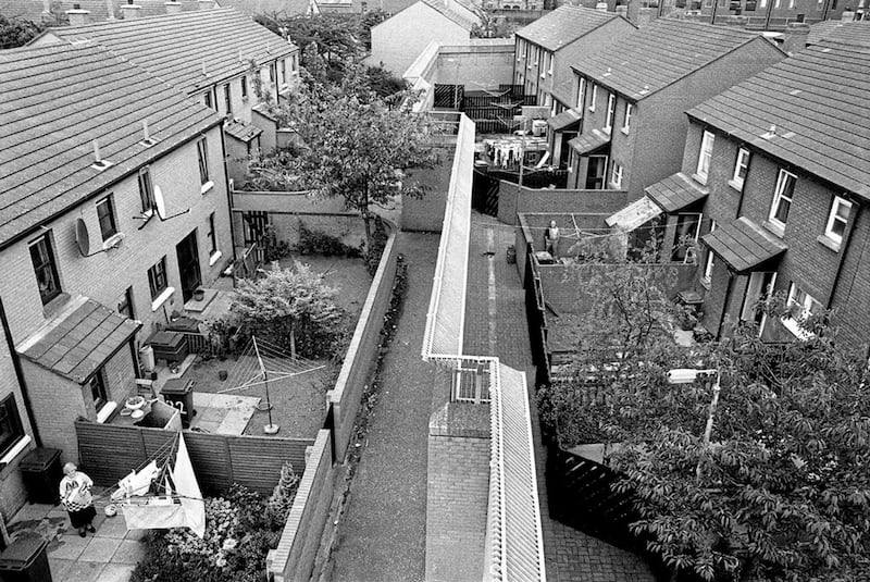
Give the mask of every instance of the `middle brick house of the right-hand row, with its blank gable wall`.
M 569 188 L 644 188 L 676 171 L 684 111 L 780 61 L 755 33 L 659 20 L 573 63 L 581 131 L 570 140 Z

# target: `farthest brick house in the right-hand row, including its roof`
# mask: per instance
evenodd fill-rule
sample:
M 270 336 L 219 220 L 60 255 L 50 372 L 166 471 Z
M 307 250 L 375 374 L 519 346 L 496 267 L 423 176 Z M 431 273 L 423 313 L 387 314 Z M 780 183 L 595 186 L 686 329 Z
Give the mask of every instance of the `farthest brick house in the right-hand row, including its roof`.
M 551 108 L 551 160 L 562 165 L 567 143 L 577 133 L 582 110 L 574 108 L 571 64 L 596 52 L 636 27 L 622 16 L 582 7 L 564 5 L 515 33 L 513 83 L 537 103 Z

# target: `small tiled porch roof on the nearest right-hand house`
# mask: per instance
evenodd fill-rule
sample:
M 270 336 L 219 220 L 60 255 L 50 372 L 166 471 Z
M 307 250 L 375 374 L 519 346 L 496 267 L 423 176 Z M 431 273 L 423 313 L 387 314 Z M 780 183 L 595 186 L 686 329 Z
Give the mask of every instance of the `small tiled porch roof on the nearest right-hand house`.
M 737 273 L 749 271 L 788 249 L 746 216 L 704 235 L 701 240 Z

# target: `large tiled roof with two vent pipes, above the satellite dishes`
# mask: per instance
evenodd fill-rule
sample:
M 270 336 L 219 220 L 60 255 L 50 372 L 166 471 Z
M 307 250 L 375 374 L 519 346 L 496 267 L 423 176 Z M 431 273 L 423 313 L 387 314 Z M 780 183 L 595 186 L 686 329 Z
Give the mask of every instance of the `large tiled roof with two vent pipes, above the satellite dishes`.
M 98 47 L 0 51 L 0 246 L 221 123 Z M 152 138 L 142 139 L 142 120 Z M 92 140 L 112 165 L 95 170 Z

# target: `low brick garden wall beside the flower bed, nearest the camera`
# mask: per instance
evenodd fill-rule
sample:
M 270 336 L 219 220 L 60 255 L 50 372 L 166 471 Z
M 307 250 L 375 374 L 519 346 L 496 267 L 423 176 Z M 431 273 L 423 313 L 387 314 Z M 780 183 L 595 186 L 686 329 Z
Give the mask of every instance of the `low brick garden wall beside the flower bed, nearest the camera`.
M 330 431 L 321 430 L 311 447 L 277 548 L 270 553 L 268 574 L 275 582 L 309 580 L 333 498 L 333 457 Z

